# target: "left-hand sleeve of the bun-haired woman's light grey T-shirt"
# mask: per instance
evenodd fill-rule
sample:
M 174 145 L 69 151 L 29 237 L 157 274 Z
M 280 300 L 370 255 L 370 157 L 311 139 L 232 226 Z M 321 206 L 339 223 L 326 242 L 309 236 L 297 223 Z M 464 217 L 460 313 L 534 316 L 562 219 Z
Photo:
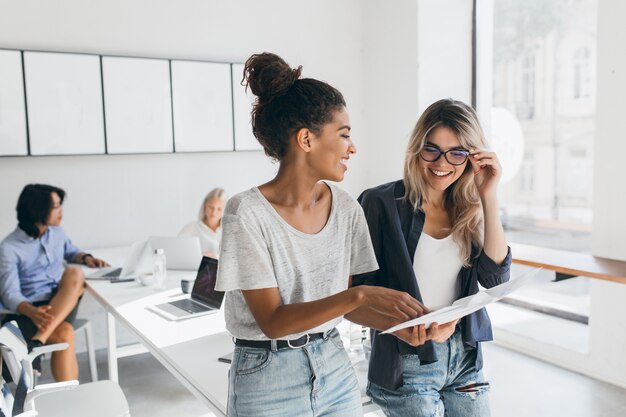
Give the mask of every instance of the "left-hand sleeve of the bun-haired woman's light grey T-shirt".
M 222 217 L 218 291 L 278 287 L 267 241 L 258 227 L 236 214 Z

